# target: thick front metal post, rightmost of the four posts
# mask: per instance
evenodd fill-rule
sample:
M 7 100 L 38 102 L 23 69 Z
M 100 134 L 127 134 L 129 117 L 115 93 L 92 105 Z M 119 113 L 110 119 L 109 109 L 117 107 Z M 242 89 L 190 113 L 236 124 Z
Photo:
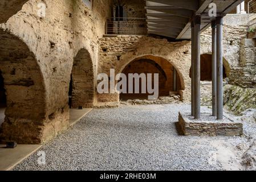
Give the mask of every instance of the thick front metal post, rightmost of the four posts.
M 223 119 L 223 17 L 218 16 L 217 24 L 217 119 Z

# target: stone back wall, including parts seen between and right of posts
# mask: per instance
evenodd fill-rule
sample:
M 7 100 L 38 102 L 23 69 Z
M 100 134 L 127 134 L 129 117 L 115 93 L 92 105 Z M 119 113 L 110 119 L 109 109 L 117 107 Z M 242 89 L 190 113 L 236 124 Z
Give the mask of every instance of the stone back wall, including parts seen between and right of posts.
M 247 34 L 246 18 L 246 15 L 227 15 L 224 18 L 224 67 L 230 77 L 236 75 L 234 70 L 239 66 L 241 41 Z M 211 53 L 212 33 L 209 28 L 201 35 L 201 55 Z M 191 64 L 188 41 L 170 43 L 165 39 L 148 36 L 105 36 L 100 39 L 98 72 L 109 74 L 110 68 L 116 69 L 118 73 L 122 72 L 132 60 L 147 55 L 166 59 L 178 69 L 184 101 L 190 101 Z M 202 97 L 211 96 L 211 85 L 206 85 L 202 91 Z

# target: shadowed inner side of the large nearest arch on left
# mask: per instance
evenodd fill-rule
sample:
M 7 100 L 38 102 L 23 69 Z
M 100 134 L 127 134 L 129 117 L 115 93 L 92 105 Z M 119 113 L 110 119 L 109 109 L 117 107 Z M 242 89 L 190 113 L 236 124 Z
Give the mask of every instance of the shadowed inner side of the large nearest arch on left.
M 42 72 L 27 44 L 3 30 L 0 30 L 0 71 L 7 100 L 1 140 L 41 143 L 46 119 Z

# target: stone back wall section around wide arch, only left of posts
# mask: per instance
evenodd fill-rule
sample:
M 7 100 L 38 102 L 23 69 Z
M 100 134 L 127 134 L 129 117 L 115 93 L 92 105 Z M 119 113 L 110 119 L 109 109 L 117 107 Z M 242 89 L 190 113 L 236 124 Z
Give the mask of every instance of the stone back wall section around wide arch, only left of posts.
M 168 42 L 149 36 L 119 35 L 100 39 L 98 73 L 115 69 L 116 74 L 134 60 L 149 59 L 157 63 L 163 59 L 176 68 L 180 77 L 182 99 L 190 98 L 190 42 Z M 171 72 L 171 70 L 170 70 Z M 167 75 L 170 73 L 166 73 Z

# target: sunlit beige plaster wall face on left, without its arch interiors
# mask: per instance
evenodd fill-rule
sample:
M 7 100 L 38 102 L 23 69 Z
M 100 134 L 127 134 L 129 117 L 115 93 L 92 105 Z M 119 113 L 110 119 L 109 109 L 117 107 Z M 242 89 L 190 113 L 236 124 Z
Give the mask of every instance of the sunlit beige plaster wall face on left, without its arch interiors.
M 74 57 L 80 49 L 86 48 L 96 70 L 97 39 L 104 33 L 102 22 L 109 14 L 106 5 L 110 1 L 95 1 L 91 11 L 82 0 L 46 0 L 43 1 L 47 7 L 46 17 L 40 18 L 37 16 L 40 2 L 30 0 L 0 25 L 1 31 L 17 36 L 35 55 L 45 89 L 46 110 L 42 130 L 37 135 L 39 140 L 31 138 L 27 142 L 16 136 L 19 143 L 43 143 L 67 128 L 68 87 Z

